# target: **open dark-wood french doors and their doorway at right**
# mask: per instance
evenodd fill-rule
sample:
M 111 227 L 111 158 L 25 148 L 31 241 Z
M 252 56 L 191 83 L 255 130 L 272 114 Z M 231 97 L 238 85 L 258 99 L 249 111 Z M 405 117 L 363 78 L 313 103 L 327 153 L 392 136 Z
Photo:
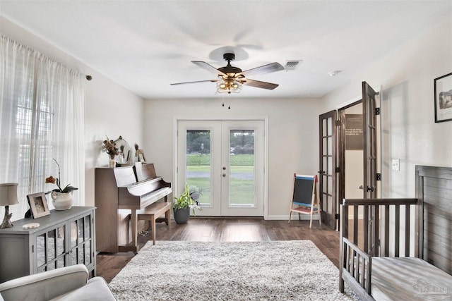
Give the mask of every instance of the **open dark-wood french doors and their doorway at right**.
M 335 219 L 338 219 L 338 208 L 343 198 L 379 197 L 379 110 L 376 109 L 378 94 L 367 82 L 362 82 L 362 99 L 339 109 L 338 113 L 331 111 L 319 116 L 321 218 L 322 223 L 333 229 L 338 226 Z M 351 122 L 350 119 L 347 121 L 349 113 L 350 118 L 361 117 L 361 124 L 353 124 L 352 128 L 347 128 L 347 123 Z M 362 143 L 357 145 L 359 139 Z M 348 144 L 351 142 L 353 147 Z M 371 221 L 374 214 L 378 212 L 365 211 L 363 218 Z M 378 229 L 371 224 L 367 228 L 368 224 L 365 223 L 364 233 L 375 235 Z M 376 246 L 365 246 L 365 251 L 371 252 L 375 248 Z

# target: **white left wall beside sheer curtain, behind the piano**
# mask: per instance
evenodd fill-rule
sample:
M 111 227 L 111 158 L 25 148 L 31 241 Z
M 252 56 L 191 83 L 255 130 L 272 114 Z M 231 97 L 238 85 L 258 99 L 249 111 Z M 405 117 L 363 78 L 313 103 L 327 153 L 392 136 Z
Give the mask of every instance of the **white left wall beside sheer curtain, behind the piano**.
M 100 151 L 102 140 L 105 135 L 111 139 L 122 135 L 132 149 L 134 142 L 143 143 L 143 99 L 2 16 L 0 32 L 65 66 L 93 76 L 85 89 L 85 191 L 78 192 L 85 205 L 93 206 L 94 168 L 108 166 L 107 154 Z M 13 216 L 18 219 L 23 212 Z

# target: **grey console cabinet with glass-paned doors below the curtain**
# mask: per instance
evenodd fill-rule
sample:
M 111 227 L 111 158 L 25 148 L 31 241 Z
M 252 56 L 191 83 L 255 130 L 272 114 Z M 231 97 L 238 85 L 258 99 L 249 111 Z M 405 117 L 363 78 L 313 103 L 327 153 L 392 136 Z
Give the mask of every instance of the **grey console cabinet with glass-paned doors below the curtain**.
M 37 228 L 23 229 L 28 223 Z M 63 266 L 85 264 L 95 276 L 95 207 L 52 210 L 0 229 L 0 283 Z

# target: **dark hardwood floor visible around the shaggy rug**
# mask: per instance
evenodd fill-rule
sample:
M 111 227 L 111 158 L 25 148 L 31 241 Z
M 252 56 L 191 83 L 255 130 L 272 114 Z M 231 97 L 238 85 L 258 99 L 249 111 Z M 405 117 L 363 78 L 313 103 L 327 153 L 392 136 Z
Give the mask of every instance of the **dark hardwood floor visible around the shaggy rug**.
M 339 266 L 339 232 L 326 226 L 319 226 L 313 221 L 265 221 L 263 219 L 213 219 L 191 218 L 189 223 L 178 225 L 172 223 L 168 228 L 165 223 L 157 223 L 157 240 L 192 240 L 192 241 L 266 241 L 266 240 L 311 240 L 326 256 Z M 150 233 L 140 235 L 141 247 L 152 240 Z M 107 282 L 121 271 L 134 256 L 128 253 L 97 254 L 97 276 Z

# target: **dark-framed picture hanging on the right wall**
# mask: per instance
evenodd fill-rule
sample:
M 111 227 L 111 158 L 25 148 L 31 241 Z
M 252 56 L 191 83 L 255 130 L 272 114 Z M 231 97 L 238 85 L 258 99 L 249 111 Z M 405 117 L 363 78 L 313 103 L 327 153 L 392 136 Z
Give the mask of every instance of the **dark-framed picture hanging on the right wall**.
M 452 73 L 434 79 L 435 122 L 452 121 Z

